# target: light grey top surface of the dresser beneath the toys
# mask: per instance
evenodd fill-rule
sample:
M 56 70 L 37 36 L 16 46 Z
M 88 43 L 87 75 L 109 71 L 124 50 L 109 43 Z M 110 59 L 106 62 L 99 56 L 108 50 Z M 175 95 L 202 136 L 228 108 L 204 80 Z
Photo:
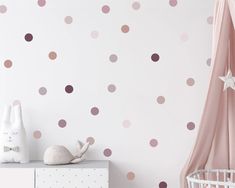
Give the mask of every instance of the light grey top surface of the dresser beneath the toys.
M 84 160 L 78 164 L 45 165 L 43 161 L 31 161 L 30 163 L 3 163 L 0 168 L 109 168 L 107 160 Z

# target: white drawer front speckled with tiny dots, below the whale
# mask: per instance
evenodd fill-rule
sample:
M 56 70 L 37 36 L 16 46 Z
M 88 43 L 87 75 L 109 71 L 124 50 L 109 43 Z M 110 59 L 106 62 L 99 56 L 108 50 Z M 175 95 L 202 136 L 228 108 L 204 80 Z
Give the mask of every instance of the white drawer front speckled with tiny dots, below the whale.
M 108 188 L 106 168 L 38 168 L 36 188 Z

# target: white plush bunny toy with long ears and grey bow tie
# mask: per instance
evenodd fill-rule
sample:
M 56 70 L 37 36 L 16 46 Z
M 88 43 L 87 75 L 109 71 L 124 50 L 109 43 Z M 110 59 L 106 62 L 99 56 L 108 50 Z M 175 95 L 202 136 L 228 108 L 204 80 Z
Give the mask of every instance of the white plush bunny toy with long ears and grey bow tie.
M 21 106 L 13 106 L 14 121 L 11 122 L 11 106 L 5 108 L 0 129 L 0 162 L 27 163 L 29 151 L 23 125 Z

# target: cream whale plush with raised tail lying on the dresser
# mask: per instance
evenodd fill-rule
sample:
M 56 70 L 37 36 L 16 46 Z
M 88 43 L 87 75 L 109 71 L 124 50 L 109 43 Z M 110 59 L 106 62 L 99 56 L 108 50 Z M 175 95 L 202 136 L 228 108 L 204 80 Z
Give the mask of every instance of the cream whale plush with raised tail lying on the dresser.
M 89 142 L 81 146 L 78 141 L 78 148 L 75 156 L 64 146 L 54 145 L 46 149 L 44 163 L 47 165 L 61 165 L 79 163 L 85 159 L 85 153 L 89 148 Z

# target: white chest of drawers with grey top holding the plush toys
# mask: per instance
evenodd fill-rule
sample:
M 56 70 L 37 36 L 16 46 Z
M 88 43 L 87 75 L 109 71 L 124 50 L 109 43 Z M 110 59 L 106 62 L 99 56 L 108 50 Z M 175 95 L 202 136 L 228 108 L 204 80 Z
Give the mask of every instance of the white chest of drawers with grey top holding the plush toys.
M 1 164 L 1 188 L 108 188 L 109 162 L 83 161 L 79 164 L 47 166 Z

